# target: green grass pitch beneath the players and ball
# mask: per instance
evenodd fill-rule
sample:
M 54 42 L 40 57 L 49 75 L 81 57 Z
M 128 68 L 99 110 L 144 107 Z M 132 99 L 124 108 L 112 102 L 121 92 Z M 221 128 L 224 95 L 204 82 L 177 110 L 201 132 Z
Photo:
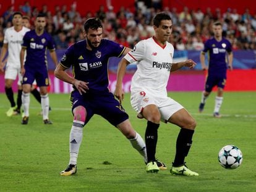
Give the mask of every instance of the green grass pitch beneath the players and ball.
M 6 117 L 9 102 L 0 94 L 0 191 L 255 191 L 256 92 L 225 92 L 221 119 L 212 117 L 215 94 L 198 114 L 200 92 L 169 93 L 197 120 L 186 162 L 198 177 L 169 173 L 179 132 L 175 125 L 160 125 L 156 157 L 168 170 L 154 174 L 145 171 L 142 157 L 129 141 L 98 115 L 83 130 L 77 173 L 62 177 L 59 172 L 69 162 L 69 95 L 49 94 L 53 125 L 43 124 L 40 105 L 31 95 L 30 119 L 21 125 L 20 116 Z M 136 118 L 129 94 L 123 105 L 143 137 L 146 121 Z M 218 151 L 226 144 L 242 151 L 242 165 L 235 170 L 218 164 Z

